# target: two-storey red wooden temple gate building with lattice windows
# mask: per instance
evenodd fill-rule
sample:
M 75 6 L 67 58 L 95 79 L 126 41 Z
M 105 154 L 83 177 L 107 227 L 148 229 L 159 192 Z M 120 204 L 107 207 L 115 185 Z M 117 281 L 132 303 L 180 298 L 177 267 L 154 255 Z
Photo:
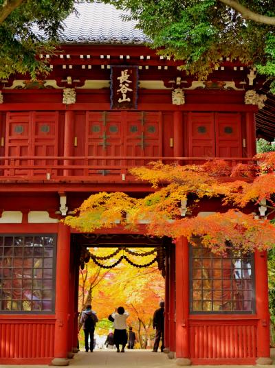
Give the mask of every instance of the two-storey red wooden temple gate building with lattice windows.
M 206 88 L 178 69 L 180 61 L 144 46 L 63 46 L 39 89 L 22 76 L 1 82 L 0 364 L 68 364 L 76 350 L 76 231 L 58 221 L 89 194 L 148 194 L 151 187 L 129 168 L 152 160 L 184 165 L 219 157 L 234 165 L 255 153 L 258 107 L 244 103 L 249 68 L 241 62 L 224 60 Z M 127 63 L 139 71 L 137 106 L 112 109 L 110 65 Z M 171 99 L 177 78 L 182 104 Z M 76 100 L 64 102 L 67 89 Z M 208 200 L 199 211 L 219 207 Z M 125 240 L 126 231 L 113 231 Z M 230 272 L 225 261 L 194 254 L 186 239 L 167 246 L 170 358 L 270 363 L 266 254 L 255 252 L 249 262 L 230 258 Z

